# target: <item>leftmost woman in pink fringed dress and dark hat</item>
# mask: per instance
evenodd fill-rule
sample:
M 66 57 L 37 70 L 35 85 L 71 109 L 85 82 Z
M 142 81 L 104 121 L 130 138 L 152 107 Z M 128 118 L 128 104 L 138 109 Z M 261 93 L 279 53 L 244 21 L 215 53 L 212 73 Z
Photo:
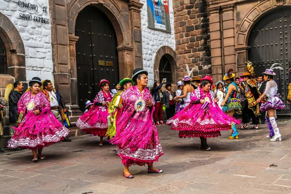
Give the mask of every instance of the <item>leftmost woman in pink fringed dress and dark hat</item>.
M 70 132 L 51 113 L 49 99 L 40 91 L 41 85 L 40 78 L 32 78 L 29 82 L 30 91 L 20 97 L 17 108 L 22 119 L 18 127 L 14 128 L 14 136 L 8 141 L 8 147 L 31 149 L 32 162 L 46 159 L 42 149 L 60 142 Z

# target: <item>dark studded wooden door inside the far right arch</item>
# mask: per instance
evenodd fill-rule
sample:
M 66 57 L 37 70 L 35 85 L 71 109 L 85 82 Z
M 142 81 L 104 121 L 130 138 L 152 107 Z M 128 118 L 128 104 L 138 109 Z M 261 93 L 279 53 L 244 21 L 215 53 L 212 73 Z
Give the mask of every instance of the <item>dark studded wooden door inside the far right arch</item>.
M 282 101 L 286 102 L 291 68 L 291 8 L 275 9 L 263 16 L 251 30 L 248 59 L 254 64 L 257 75 L 274 63 L 283 65 L 275 70 Z M 281 113 L 291 113 L 290 108 Z

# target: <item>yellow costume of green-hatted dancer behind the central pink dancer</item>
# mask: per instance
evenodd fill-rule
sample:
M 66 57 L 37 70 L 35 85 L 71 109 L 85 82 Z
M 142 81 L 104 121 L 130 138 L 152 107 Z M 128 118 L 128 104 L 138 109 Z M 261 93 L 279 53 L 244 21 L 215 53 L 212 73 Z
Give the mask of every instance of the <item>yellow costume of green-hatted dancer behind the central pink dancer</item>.
M 111 102 L 110 105 L 108 107 L 108 113 L 112 113 L 112 118 L 113 118 L 113 122 L 111 126 L 108 126 L 107 132 L 106 132 L 106 136 L 108 136 L 109 138 L 113 138 L 116 134 L 116 125 L 115 125 L 115 120 L 116 120 L 116 114 L 117 114 L 117 107 L 115 106 L 115 103 L 117 101 L 117 98 L 120 97 L 121 91 L 117 92 Z

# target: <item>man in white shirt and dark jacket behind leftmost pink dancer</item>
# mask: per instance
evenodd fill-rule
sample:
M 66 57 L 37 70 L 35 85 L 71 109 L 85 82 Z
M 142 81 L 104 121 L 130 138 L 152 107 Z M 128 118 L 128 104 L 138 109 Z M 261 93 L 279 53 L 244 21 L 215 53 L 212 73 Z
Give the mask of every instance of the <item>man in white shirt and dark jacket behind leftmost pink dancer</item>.
M 66 112 L 65 101 L 61 96 L 60 92 L 53 88 L 52 82 L 50 80 L 44 80 L 43 83 L 43 93 L 49 98 L 50 101 L 50 111 L 53 115 L 61 122 L 64 123 L 62 118 L 62 111 Z M 65 137 L 64 142 L 72 141 L 68 137 Z

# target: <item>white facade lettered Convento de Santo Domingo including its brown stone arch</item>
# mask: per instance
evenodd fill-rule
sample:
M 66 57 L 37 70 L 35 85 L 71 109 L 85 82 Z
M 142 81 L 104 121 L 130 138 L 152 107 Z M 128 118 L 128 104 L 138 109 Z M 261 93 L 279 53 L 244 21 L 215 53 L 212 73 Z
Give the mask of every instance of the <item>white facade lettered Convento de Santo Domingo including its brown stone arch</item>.
M 6 85 L 22 81 L 26 89 L 32 77 L 53 79 L 50 27 L 49 0 L 0 0 L 0 146 L 10 138 Z

